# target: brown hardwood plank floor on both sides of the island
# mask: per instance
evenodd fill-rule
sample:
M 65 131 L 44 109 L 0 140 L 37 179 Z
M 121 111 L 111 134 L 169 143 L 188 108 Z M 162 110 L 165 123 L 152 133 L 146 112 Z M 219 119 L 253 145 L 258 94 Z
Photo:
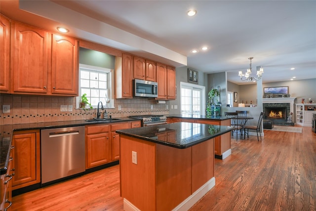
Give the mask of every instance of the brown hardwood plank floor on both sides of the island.
M 316 134 L 264 130 L 215 159 L 216 185 L 191 211 L 316 211 Z M 13 197 L 13 211 L 122 211 L 119 167 Z

